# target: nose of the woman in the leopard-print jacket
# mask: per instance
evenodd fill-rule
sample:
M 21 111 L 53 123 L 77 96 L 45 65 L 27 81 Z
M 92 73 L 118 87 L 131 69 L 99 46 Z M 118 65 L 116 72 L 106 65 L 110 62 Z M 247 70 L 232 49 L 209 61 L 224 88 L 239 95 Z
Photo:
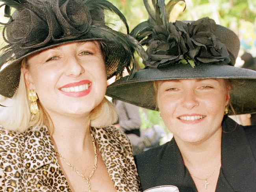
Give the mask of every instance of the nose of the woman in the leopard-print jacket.
M 85 72 L 81 61 L 75 56 L 70 56 L 66 61 L 65 73 L 67 76 L 80 76 Z

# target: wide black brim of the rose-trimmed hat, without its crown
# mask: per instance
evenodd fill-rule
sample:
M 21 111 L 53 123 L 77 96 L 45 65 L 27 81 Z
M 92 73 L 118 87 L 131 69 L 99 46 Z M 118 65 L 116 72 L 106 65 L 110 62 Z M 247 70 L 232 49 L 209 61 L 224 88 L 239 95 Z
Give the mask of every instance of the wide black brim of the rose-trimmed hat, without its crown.
M 107 95 L 148 109 L 156 109 L 153 82 L 168 79 L 236 79 L 230 100 L 236 114 L 256 113 L 256 71 L 229 65 L 175 64 L 164 68 L 146 68 L 108 86 Z M 233 114 L 229 110 L 229 114 Z

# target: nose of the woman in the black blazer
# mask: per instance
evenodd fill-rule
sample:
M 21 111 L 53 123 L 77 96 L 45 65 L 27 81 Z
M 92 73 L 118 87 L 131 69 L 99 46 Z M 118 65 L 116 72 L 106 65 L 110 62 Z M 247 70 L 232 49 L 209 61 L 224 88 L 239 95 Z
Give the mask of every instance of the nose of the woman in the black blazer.
M 197 94 L 195 93 L 195 90 L 186 90 L 186 92 L 183 94 L 182 106 L 186 107 L 187 109 L 193 109 L 198 105 L 199 102 L 197 100 Z

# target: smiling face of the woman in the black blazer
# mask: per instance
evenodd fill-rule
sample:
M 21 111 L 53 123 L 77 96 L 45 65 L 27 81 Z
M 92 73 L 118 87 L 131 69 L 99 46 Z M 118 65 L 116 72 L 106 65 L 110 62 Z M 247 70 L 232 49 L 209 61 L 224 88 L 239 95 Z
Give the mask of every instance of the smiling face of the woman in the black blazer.
M 224 79 L 181 79 L 157 82 L 157 102 L 176 140 L 203 142 L 221 133 L 229 100 Z

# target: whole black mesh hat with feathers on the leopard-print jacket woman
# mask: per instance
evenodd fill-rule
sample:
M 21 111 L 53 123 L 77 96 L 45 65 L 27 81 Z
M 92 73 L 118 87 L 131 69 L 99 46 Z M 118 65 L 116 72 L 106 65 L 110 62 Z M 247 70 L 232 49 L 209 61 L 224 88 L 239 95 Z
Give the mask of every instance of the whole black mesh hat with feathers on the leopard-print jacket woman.
M 22 59 L 42 50 L 75 41 L 100 41 L 106 53 L 107 76 L 122 73 L 133 60 L 134 40 L 111 29 L 105 22 L 105 11 L 118 15 L 126 26 L 124 15 L 106 0 L 0 0 L 5 6 L 1 48 L 0 94 L 11 98 L 19 86 Z M 10 7 L 15 12 L 10 14 Z M 1 23 L 3 24 L 3 23 Z M 113 26 L 113 25 L 112 25 Z

